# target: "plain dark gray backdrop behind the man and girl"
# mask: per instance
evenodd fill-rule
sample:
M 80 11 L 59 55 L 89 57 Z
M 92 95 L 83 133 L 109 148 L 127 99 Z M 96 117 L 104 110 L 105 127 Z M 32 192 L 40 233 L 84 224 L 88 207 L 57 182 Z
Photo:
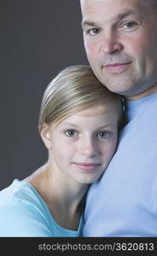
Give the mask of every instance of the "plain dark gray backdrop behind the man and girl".
M 87 64 L 79 0 L 0 0 L 0 189 L 47 160 L 42 93 L 60 69 Z

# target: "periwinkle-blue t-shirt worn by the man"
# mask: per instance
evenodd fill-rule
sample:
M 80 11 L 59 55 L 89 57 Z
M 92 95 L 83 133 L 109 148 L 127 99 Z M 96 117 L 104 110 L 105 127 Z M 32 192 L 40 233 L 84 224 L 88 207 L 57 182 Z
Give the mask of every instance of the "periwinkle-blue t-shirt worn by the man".
M 117 152 L 87 194 L 83 236 L 157 236 L 157 93 L 127 103 Z

